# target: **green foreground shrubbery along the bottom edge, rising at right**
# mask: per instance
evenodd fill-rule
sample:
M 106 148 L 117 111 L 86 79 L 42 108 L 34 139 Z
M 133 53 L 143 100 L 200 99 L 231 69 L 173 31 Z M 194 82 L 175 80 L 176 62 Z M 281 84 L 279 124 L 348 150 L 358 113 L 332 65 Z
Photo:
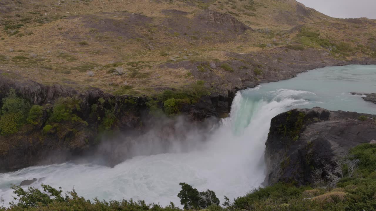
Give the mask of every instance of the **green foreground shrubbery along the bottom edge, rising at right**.
M 341 178 L 336 187 L 295 187 L 291 184 L 274 184 L 256 188 L 231 202 L 225 197 L 222 206 L 211 190 L 199 192 L 186 183 L 178 197 L 185 209 L 209 211 L 376 211 L 376 145 L 364 144 L 353 148 L 350 159 L 359 160 L 353 176 Z M 343 166 L 346 170 L 346 166 Z M 60 189 L 42 185 L 43 191 L 29 188 L 27 191 L 13 186 L 16 202 L 0 211 L 181 211 L 173 203 L 166 207 L 147 204 L 144 201 L 98 199 L 86 200 L 73 190 L 62 196 Z

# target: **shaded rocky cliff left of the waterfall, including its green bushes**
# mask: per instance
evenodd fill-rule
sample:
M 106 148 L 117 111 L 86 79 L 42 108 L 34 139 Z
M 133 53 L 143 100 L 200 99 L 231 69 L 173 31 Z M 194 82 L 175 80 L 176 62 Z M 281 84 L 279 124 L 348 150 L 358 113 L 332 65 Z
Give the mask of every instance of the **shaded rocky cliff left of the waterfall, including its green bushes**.
M 9 96 L 11 90 L 15 96 Z M 175 93 L 171 90 L 167 94 Z M 113 166 L 134 156 L 130 148 L 135 139 L 143 142 L 142 136 L 150 131 L 161 142 L 161 148 L 168 148 L 171 137 L 179 141 L 176 137 L 183 137 L 184 131 L 205 130 L 207 125 L 216 124 L 218 116 L 229 112 L 234 95 L 176 99 L 175 104 L 165 105 L 164 96 L 114 96 L 95 88 L 79 92 L 68 86 L 0 78 L 0 172 L 87 156 L 91 156 L 91 161 L 101 160 L 102 164 Z M 22 102 L 23 107 L 14 105 L 17 102 Z M 21 118 L 8 121 L 3 116 L 18 113 L 5 113 L 6 106 L 24 110 Z M 167 113 L 167 109 L 173 112 Z M 183 120 L 177 118 L 179 114 Z M 208 121 L 211 117 L 214 121 Z M 14 128 L 10 127 L 12 124 L 16 124 Z M 150 154 L 164 153 L 163 149 L 158 150 Z

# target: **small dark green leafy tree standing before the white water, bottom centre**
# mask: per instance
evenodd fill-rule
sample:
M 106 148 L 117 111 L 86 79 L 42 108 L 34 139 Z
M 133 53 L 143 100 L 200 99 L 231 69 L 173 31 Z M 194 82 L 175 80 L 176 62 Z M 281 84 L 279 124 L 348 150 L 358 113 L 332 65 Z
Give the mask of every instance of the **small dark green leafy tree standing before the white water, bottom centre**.
M 184 209 L 199 208 L 199 191 L 184 182 L 180 182 L 182 190 L 177 194 L 180 199 L 180 204 L 184 205 Z

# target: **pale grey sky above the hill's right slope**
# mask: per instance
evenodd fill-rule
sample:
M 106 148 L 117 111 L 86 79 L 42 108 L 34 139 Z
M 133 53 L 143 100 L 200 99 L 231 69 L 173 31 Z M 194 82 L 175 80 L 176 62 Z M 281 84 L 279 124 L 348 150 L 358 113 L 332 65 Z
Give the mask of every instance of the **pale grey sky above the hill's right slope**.
M 376 19 L 376 0 L 297 0 L 325 15 L 335 18 Z

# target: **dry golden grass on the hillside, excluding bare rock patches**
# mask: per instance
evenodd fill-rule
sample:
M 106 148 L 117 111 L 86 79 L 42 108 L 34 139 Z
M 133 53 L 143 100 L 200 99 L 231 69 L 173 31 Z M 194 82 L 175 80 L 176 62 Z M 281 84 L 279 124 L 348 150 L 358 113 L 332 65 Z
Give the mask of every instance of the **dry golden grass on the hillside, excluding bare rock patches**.
M 368 39 L 376 34 L 374 21 L 350 23 L 334 19 L 309 10 L 309 16 L 297 14 L 299 3 L 288 0 L 249 1 L 212 1 L 211 4 L 192 0 L 190 3 L 174 0 L 112 0 L 111 4 L 103 0 L 61 1 L 21 0 L 16 5 L 12 0 L 4 0 L 5 5 L 17 6 L 17 11 L 2 15 L 4 23 L 22 23 L 20 32 L 9 36 L 9 31 L 0 30 L 0 74 L 12 80 L 34 80 L 44 84 L 63 83 L 77 89 L 88 86 L 99 87 L 108 92 L 115 92 L 121 86 L 132 86 L 135 92 L 151 93 L 158 87 L 185 87 L 200 78 L 190 76 L 190 69 L 161 68 L 164 63 L 182 60 L 213 61 L 229 60 L 228 52 L 265 53 L 274 48 L 296 42 L 297 32 L 288 32 L 294 24 L 305 24 L 310 30 L 320 30 L 324 38 L 334 42 L 349 42 L 353 48 L 367 45 Z M 246 31 L 233 38 L 212 38 L 209 32 L 203 32 L 199 39 L 187 38 L 174 29 L 162 26 L 166 18 L 174 18 L 162 12 L 166 9 L 188 12 L 185 15 L 192 21 L 202 9 L 232 14 L 254 29 L 265 31 Z M 130 14 L 142 14 L 151 18 L 150 23 L 141 23 L 132 28 L 130 35 L 119 34 L 116 29 L 98 32 L 88 26 L 88 20 L 96 23 L 112 20 L 126 25 L 124 11 Z M 248 14 L 252 12 L 255 15 Z M 127 13 L 127 14 L 129 14 Z M 291 14 L 290 16 L 280 14 Z M 20 17 L 18 17 L 18 16 Z M 22 22 L 23 18 L 31 18 Z M 38 23 L 35 18 L 46 18 L 46 23 Z M 60 19 L 62 18 L 62 19 Z M 287 18 L 287 21 L 279 22 Z M 39 19 L 38 19 L 39 20 Z M 124 22 L 121 22 L 124 21 Z M 28 23 L 27 23 L 28 22 Z M 105 23 L 105 22 L 103 22 Z M 178 33 L 174 35 L 174 33 Z M 23 34 L 24 36 L 19 36 Z M 200 35 L 201 36 L 201 35 Z M 81 43 L 81 44 L 80 44 Z M 317 48 L 321 48 L 318 46 Z M 12 49 L 12 51 L 9 51 Z M 37 56 L 35 56 L 35 54 Z M 24 56 L 28 59 L 17 60 Z M 356 50 L 352 57 L 367 56 L 362 50 Z M 129 62 L 146 62 L 137 69 L 136 76 L 130 74 L 114 75 L 109 67 L 112 63 L 121 63 L 124 71 L 132 71 Z M 80 68 L 86 65 L 86 68 Z M 94 72 L 89 76 L 87 71 Z M 221 71 L 214 71 L 223 77 Z M 229 84 L 231 86 L 231 84 Z

